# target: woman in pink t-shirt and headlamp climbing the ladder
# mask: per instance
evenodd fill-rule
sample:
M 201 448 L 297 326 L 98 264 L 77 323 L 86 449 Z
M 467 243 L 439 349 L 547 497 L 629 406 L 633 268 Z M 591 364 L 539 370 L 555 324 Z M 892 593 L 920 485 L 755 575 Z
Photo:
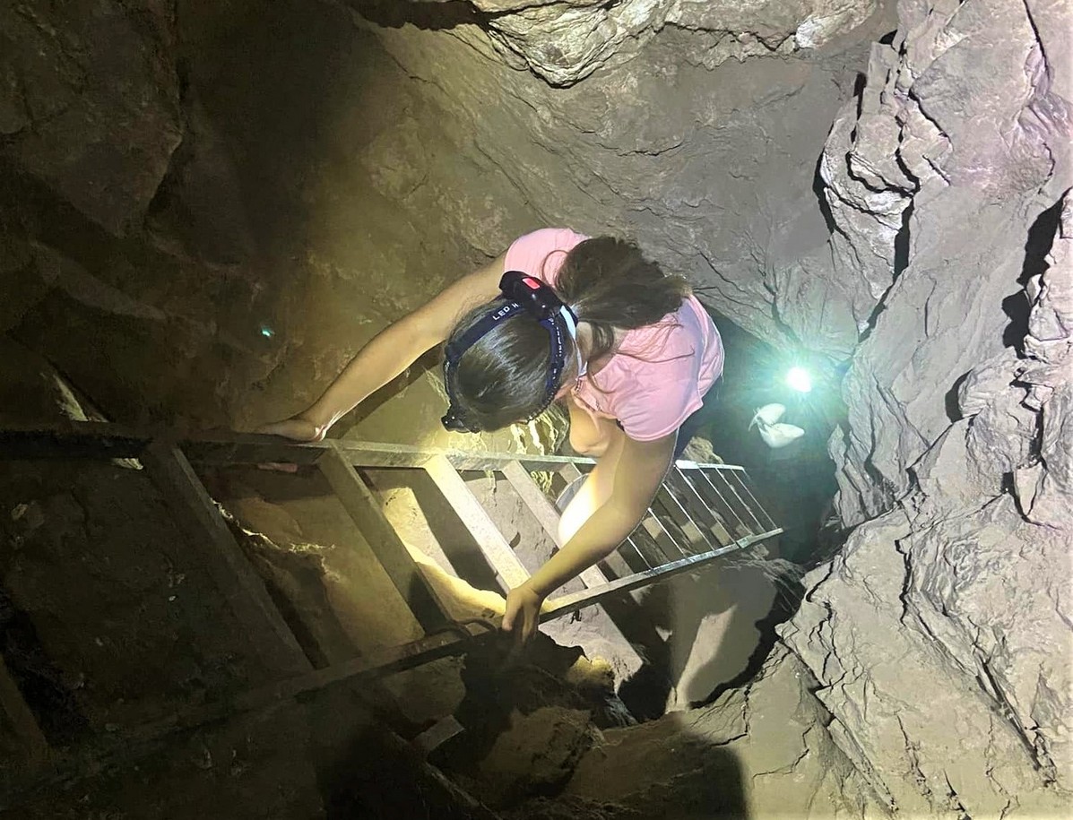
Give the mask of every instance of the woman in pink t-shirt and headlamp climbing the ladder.
M 508 595 L 503 629 L 527 641 L 544 599 L 641 522 L 722 374 L 722 342 L 686 280 L 636 246 L 544 229 L 384 330 L 312 407 L 260 431 L 320 440 L 445 339 L 449 429 L 498 429 L 558 399 L 571 446 L 597 462 L 563 511 L 562 547 Z

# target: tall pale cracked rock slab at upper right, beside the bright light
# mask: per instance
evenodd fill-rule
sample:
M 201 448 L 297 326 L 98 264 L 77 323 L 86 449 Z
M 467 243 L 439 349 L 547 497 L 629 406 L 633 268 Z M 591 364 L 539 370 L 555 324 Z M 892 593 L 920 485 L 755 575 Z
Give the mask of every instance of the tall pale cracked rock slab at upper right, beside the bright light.
M 858 270 L 856 287 L 881 305 L 846 378 L 849 421 L 832 444 L 846 524 L 906 493 L 909 468 L 951 423 L 947 394 L 1008 346 L 1003 299 L 1016 294 L 1029 229 L 1073 181 L 1070 103 L 1049 79 L 1063 67 L 1043 52 L 1030 13 L 1014 3 L 911 4 L 894 43 L 873 49 L 850 177 L 828 188 L 843 203 L 856 196 L 849 211 L 832 207 L 836 269 Z M 829 142 L 824 162 L 844 166 L 846 148 Z M 892 148 L 897 166 L 881 161 Z M 854 158 L 866 156 L 880 159 L 859 165 L 871 177 L 855 179 Z M 911 214 L 907 234 L 877 190 Z

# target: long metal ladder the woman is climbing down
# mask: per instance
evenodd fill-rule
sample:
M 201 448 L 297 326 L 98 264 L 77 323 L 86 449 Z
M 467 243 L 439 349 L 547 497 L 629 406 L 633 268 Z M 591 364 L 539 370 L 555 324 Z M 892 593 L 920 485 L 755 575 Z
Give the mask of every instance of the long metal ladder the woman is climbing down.
M 143 738 L 254 709 L 328 684 L 385 675 L 459 655 L 498 630 L 482 621 L 453 621 L 447 606 L 425 579 L 382 506 L 362 477 L 363 469 L 421 469 L 457 513 L 503 590 L 529 573 L 471 492 L 461 472 L 501 473 L 553 542 L 559 514 L 532 472 L 572 481 L 593 463 L 548 455 L 503 455 L 433 451 L 401 444 L 332 440 L 286 442 L 270 436 L 204 434 L 175 437 L 120 425 L 71 422 L 62 426 L 0 430 L 0 459 L 136 458 L 161 490 L 173 517 L 201 551 L 215 584 L 242 624 L 256 653 L 281 679 L 230 698 L 192 707 L 143 726 Z M 377 560 L 425 631 L 401 646 L 313 669 L 276 607 L 261 576 L 197 477 L 194 465 L 234 466 L 284 462 L 320 470 Z M 673 575 L 702 569 L 721 556 L 782 532 L 756 500 L 745 470 L 722 464 L 679 460 L 671 469 L 642 524 L 598 567 L 586 570 L 583 590 L 549 600 L 541 621 L 576 612 Z M 35 758 L 46 756 L 44 736 L 18 687 L 0 662 L 0 706 Z

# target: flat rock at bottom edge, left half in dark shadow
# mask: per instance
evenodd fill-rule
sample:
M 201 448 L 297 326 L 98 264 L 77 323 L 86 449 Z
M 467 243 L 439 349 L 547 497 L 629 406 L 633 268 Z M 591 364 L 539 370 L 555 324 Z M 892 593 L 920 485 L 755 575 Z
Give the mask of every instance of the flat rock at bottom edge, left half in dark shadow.
M 821 728 L 827 716 L 808 693 L 810 683 L 782 650 L 768 659 L 761 683 L 710 706 L 606 731 L 565 796 L 616 820 L 879 816 Z

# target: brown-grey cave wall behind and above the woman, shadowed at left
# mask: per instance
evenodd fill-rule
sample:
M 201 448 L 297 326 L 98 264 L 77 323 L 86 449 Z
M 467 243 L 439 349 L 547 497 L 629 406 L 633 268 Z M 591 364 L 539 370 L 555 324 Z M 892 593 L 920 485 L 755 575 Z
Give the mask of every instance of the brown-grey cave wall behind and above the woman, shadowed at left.
M 848 355 L 870 305 L 821 289 L 822 322 L 785 321 L 773 294 L 814 290 L 793 270 L 827 239 L 817 159 L 890 9 L 353 6 L 6 8 L 0 328 L 112 418 L 249 427 L 521 232 L 572 224 Z

